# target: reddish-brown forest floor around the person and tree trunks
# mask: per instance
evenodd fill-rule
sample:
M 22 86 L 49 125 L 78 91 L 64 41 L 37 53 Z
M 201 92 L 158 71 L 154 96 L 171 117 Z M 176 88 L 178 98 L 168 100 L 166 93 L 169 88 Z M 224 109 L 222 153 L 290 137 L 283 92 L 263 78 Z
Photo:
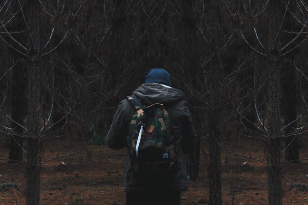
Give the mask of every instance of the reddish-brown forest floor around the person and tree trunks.
M 42 161 L 72 153 L 84 146 L 77 140 L 45 141 Z M 307 143 L 305 143 L 307 145 Z M 0 145 L 1 146 L 1 145 Z M 263 141 L 233 137 L 224 141 L 228 150 L 265 160 Z M 8 157 L 8 148 L 0 147 L 0 159 Z M 88 146 L 80 153 L 48 161 L 41 170 L 41 205 L 125 205 L 123 192 L 124 149 Z M 189 180 L 189 190 L 182 193 L 182 205 L 208 204 L 206 142 L 201 144 L 200 176 Z M 306 146 L 300 148 L 301 158 L 308 158 Z M 283 158 L 283 157 L 282 157 Z M 283 159 L 282 159 L 283 161 Z M 17 189 L 0 191 L 0 205 L 25 205 L 26 165 L 8 164 L 0 160 L 0 184 L 14 182 Z M 283 205 L 308 205 L 308 161 L 282 164 Z M 264 163 L 239 158 L 222 150 L 222 204 L 267 205 L 267 170 Z M 292 183 L 305 183 L 291 189 Z

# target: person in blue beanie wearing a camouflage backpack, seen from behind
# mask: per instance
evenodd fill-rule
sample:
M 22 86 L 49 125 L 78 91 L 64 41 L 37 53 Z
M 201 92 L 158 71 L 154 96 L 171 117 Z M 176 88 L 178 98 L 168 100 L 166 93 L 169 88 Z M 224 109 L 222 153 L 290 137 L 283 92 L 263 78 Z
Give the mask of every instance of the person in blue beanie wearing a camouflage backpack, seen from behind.
M 163 107 L 159 107 L 161 104 Z M 158 108 L 155 109 L 154 107 L 157 106 Z M 149 122 L 144 121 L 139 122 L 139 124 L 143 125 L 140 126 L 136 124 L 136 120 L 132 120 L 132 117 L 140 118 L 143 115 L 146 115 L 146 120 L 149 120 L 150 117 L 147 114 L 149 111 L 147 110 L 150 107 L 155 112 L 162 113 L 163 120 L 159 119 L 158 123 L 161 123 L 159 124 L 161 128 L 158 131 L 155 131 L 157 123 L 147 125 Z M 151 123 L 154 122 L 151 121 Z M 131 127 L 132 131 L 130 130 Z M 151 150 L 154 150 L 153 152 L 144 152 L 143 156 L 147 157 L 147 154 L 151 155 L 155 150 L 165 150 L 166 153 L 161 156 L 162 160 L 167 161 L 153 162 L 154 166 L 148 162 L 143 164 L 140 160 L 138 162 L 138 152 L 141 155 L 143 153 L 142 147 L 145 146 L 142 145 L 142 140 L 147 136 L 151 137 L 151 132 L 156 133 L 154 135 L 158 136 L 161 134 L 170 136 L 166 137 L 170 138 L 170 141 L 156 143 L 151 147 Z M 138 140 L 128 140 L 129 138 L 134 138 L 130 135 L 136 135 L 135 137 Z M 159 136 L 159 139 L 162 138 L 165 137 Z M 184 100 L 184 93 L 171 87 L 171 76 L 165 69 L 151 69 L 146 75 L 145 84 L 139 86 L 133 92 L 133 95 L 120 102 L 107 134 L 107 145 L 112 149 L 126 147 L 124 162 L 126 205 L 180 205 L 181 192 L 188 188 L 185 154 L 194 151 L 196 134 Z M 139 151 L 138 148 L 140 148 Z M 137 162 L 134 159 L 137 159 Z M 136 166 L 133 163 L 136 163 Z M 149 175 L 138 176 L 139 174 L 142 175 L 142 166 L 144 164 L 145 166 L 151 164 L 151 166 L 155 167 L 155 170 L 149 171 L 148 169 Z M 161 165 L 164 168 L 158 169 L 156 165 L 157 167 Z M 147 169 L 145 168 L 144 170 Z M 161 176 L 159 176 L 160 174 Z

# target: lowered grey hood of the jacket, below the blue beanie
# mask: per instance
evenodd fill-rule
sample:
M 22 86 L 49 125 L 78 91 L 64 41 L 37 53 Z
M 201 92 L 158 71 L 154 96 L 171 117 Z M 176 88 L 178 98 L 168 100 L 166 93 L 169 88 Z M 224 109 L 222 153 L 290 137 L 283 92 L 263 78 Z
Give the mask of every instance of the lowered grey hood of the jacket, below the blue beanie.
M 170 104 L 184 99 L 184 93 L 181 90 L 157 83 L 143 84 L 133 94 L 145 105 L 154 103 Z

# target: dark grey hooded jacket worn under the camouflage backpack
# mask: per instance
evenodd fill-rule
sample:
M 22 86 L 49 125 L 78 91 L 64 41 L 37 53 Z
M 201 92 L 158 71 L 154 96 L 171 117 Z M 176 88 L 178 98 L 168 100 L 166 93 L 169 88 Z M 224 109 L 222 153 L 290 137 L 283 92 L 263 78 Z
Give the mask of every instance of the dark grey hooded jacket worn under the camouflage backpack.
M 127 99 L 120 102 L 118 110 L 107 134 L 107 145 L 113 149 L 126 146 L 126 158 L 124 163 L 124 191 L 139 192 L 151 190 L 155 187 L 166 190 L 187 190 L 186 160 L 184 154 L 193 152 L 196 144 L 191 116 L 189 114 L 184 93 L 176 88 L 167 88 L 160 84 L 143 84 L 134 92 L 143 104 L 164 104 L 172 120 L 173 131 L 176 136 L 177 174 L 170 181 L 140 181 L 132 175 L 129 148 L 126 142 L 128 127 L 135 108 Z

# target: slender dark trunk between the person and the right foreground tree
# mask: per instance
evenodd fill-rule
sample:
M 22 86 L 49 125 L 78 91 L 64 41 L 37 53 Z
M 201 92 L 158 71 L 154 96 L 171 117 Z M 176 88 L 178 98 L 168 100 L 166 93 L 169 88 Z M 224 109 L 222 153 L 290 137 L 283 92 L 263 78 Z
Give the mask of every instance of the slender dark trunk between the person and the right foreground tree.
M 210 52 L 212 60 L 209 65 L 209 205 L 221 205 L 221 133 L 224 117 L 222 109 L 224 105 L 224 66 L 223 66 L 223 40 L 225 22 L 222 17 L 223 3 L 220 1 L 212 1 L 210 19 L 211 41 Z M 215 37 L 214 37 L 215 36 Z

